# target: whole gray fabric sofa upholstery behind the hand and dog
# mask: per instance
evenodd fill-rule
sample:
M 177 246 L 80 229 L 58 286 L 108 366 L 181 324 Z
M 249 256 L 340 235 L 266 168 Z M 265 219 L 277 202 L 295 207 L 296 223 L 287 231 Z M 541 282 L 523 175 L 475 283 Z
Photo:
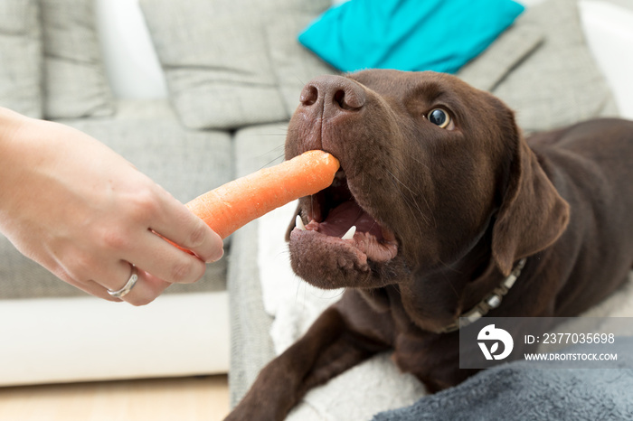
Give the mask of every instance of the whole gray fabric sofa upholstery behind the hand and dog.
M 0 104 L 95 136 L 180 201 L 279 162 L 298 92 L 335 72 L 296 40 L 330 0 L 139 1 L 168 102 L 112 99 L 91 0 L 4 0 L 0 62 L 14 69 L 0 68 Z M 617 114 L 574 0 L 528 9 L 459 76 L 503 98 L 528 132 Z M 258 235 L 254 221 L 227 240 L 226 257 L 201 282 L 165 292 L 228 289 L 233 404 L 274 356 Z M 0 238 L 0 300 L 77 295 Z

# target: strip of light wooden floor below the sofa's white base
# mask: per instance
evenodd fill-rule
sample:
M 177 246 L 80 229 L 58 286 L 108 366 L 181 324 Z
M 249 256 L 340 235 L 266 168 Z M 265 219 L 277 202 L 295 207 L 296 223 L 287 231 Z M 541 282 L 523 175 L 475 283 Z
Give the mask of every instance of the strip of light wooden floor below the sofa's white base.
M 226 376 L 0 388 L 0 420 L 216 421 L 228 412 Z

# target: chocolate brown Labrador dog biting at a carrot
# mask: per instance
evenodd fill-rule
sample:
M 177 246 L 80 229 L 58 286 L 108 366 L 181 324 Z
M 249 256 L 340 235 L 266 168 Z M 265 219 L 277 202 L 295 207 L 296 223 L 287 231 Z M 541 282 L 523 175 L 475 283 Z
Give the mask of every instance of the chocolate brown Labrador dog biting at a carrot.
M 458 368 L 460 315 L 572 316 L 633 267 L 633 122 L 525 139 L 502 101 L 456 77 L 366 70 L 303 89 L 286 157 L 310 149 L 341 169 L 299 200 L 292 268 L 345 294 L 228 419 L 283 419 L 388 350 L 430 391 L 457 385 L 474 372 Z

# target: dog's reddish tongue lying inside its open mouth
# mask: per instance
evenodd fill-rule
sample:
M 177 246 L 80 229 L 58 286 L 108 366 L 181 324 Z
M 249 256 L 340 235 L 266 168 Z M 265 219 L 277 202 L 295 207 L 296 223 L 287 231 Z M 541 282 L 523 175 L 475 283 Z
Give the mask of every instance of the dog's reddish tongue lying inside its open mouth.
M 326 220 L 319 224 L 319 231 L 332 237 L 341 237 L 352 226 L 357 232 L 369 232 L 382 239 L 380 225 L 367 212 L 363 211 L 356 201 L 345 201 L 329 212 Z

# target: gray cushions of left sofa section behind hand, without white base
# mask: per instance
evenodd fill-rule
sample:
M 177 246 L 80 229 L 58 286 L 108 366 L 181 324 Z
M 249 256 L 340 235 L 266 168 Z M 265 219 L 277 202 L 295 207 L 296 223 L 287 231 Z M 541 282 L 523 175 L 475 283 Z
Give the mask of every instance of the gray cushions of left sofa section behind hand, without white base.
M 113 98 L 91 1 L 3 2 L 0 62 L 0 105 L 96 137 L 180 201 L 233 177 L 230 133 L 187 130 L 165 100 Z M 226 261 L 210 266 L 193 288 L 224 288 L 226 266 Z M 3 300 L 84 295 L 23 257 L 5 238 L 0 241 L 0 279 Z M 183 291 L 176 286 L 170 293 Z

